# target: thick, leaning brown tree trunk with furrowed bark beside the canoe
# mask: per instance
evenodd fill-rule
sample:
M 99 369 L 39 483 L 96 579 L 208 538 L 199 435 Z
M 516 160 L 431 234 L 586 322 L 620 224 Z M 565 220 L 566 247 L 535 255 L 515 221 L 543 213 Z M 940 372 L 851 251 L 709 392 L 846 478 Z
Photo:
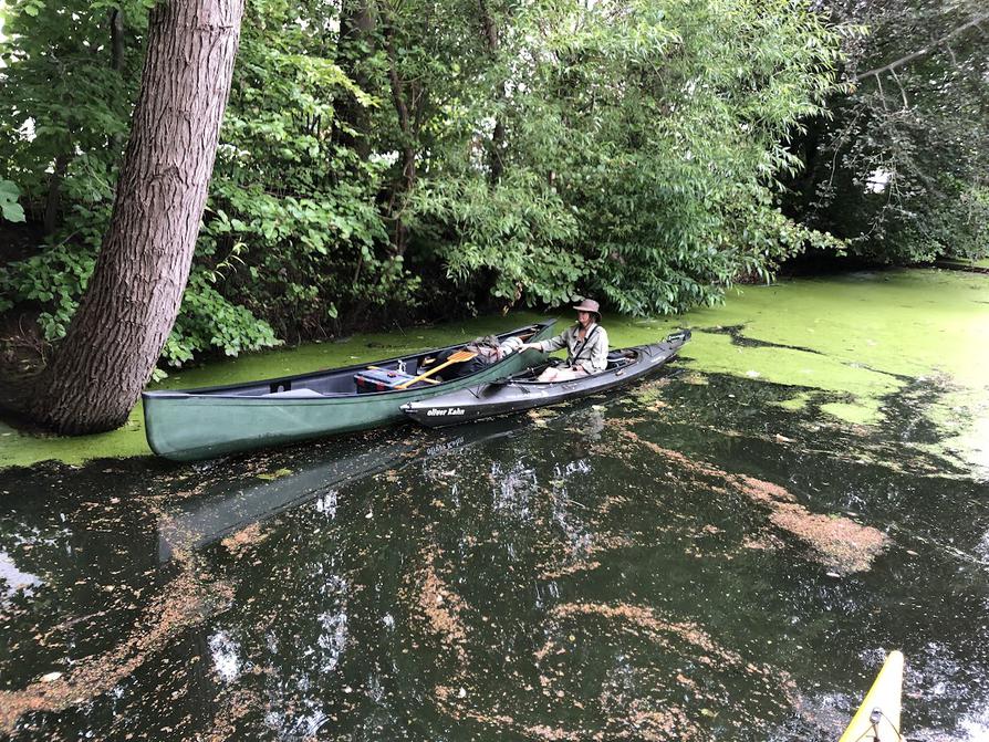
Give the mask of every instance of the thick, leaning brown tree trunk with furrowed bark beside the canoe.
M 155 6 L 131 139 L 93 278 L 31 405 L 79 435 L 124 424 L 189 278 L 243 0 Z

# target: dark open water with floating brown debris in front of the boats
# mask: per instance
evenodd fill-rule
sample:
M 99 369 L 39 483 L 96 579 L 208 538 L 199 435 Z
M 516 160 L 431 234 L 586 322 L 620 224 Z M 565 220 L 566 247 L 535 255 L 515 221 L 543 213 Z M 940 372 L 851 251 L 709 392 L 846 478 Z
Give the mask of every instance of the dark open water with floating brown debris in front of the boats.
M 669 375 L 539 419 L 0 473 L 0 729 L 834 740 L 902 649 L 909 739 L 989 738 L 989 484 L 914 446 L 938 389 L 866 435 Z

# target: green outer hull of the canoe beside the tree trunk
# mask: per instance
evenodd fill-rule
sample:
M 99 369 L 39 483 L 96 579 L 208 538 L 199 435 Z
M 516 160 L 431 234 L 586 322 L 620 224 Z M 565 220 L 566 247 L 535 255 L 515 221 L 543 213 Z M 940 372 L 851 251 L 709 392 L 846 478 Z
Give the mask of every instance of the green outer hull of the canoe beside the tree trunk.
M 552 323 L 538 325 L 533 339 L 552 333 Z M 150 391 L 144 394 L 145 433 L 152 450 L 175 461 L 196 461 L 239 451 L 281 446 L 336 433 L 367 430 L 404 420 L 402 406 L 467 386 L 518 373 L 544 356 L 534 351 L 512 354 L 468 377 L 435 386 L 373 394 L 325 397 L 238 396 L 220 389 Z M 386 365 L 379 360 L 367 365 Z M 334 372 L 346 374 L 366 365 Z M 295 379 L 311 378 L 293 377 Z M 262 386 L 277 386 L 274 379 Z M 287 387 L 289 388 L 289 387 Z

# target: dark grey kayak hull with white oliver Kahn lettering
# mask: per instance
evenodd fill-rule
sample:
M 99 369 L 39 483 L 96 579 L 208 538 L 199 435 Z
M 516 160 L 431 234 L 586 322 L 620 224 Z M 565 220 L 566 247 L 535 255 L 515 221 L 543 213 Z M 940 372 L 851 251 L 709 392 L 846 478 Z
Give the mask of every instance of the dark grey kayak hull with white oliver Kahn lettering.
M 416 422 L 430 428 L 444 428 L 556 405 L 646 378 L 674 358 L 688 338 L 689 334 L 686 334 L 676 341 L 625 348 L 626 353 L 638 354 L 634 363 L 572 382 L 541 384 L 509 379 L 506 383 L 472 386 L 441 397 L 409 403 L 402 409 Z

